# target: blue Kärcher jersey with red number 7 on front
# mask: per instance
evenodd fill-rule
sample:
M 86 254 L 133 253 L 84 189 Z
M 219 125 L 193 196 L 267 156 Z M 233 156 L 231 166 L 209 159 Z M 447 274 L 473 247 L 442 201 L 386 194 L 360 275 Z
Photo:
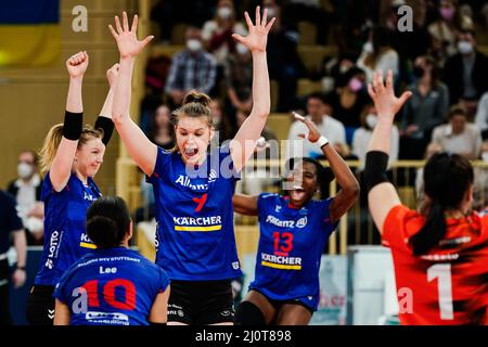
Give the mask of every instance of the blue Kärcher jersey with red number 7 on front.
M 239 175 L 228 147 L 188 171 L 178 152 L 158 149 L 154 174 L 156 264 L 171 280 L 211 281 L 242 275 L 232 195 Z

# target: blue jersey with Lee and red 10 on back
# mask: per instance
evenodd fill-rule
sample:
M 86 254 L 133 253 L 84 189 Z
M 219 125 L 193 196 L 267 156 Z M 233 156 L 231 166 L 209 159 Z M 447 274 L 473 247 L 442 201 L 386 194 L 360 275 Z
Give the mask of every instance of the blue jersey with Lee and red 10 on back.
M 68 306 L 70 325 L 149 325 L 153 303 L 168 285 L 158 266 L 115 247 L 84 256 L 63 274 L 53 296 Z

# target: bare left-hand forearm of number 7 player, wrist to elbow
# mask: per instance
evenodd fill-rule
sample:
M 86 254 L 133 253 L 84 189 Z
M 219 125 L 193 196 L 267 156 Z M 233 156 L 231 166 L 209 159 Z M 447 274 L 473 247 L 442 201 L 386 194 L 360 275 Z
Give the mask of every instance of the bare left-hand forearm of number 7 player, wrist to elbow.
M 112 103 L 112 119 L 116 124 L 129 118 L 133 64 L 133 57 L 120 59 L 120 69 Z

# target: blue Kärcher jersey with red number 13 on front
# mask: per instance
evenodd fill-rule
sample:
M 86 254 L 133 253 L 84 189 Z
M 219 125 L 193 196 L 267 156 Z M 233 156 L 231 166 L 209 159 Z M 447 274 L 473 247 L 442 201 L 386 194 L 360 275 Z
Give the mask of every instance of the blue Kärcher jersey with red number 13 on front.
M 259 245 L 256 290 L 274 300 L 299 300 L 312 310 L 319 304 L 322 252 L 337 223 L 331 223 L 330 204 L 310 201 L 301 208 L 278 194 L 258 197 Z

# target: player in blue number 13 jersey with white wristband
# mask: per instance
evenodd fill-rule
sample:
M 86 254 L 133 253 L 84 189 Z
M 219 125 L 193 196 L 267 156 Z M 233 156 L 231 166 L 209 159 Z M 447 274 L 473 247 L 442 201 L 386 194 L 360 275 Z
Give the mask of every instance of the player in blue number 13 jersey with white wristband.
M 359 183 L 347 164 L 320 136 L 309 119 L 308 140 L 320 146 L 341 191 L 328 200 L 313 200 L 330 179 L 312 158 L 293 160 L 287 196 L 234 195 L 236 213 L 258 216 L 260 237 L 255 280 L 235 314 L 235 324 L 308 324 L 319 304 L 319 267 L 329 236 L 359 195 Z

